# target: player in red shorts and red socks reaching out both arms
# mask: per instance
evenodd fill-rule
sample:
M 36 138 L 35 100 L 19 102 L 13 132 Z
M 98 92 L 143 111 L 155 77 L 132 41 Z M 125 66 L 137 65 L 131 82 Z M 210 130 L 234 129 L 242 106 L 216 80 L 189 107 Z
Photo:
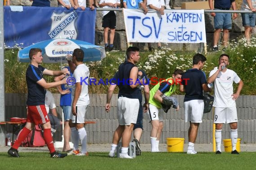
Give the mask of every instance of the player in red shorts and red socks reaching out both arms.
M 60 158 L 66 157 L 67 154 L 58 153 L 54 149 L 53 138 L 51 135 L 51 123 L 47 115 L 47 111 L 44 106 L 45 101 L 45 89 L 57 87 L 58 85 L 66 84 L 66 78 L 61 81 L 47 83 L 43 75 L 60 76 L 62 74 L 69 74 L 68 71 L 52 71 L 42 67 L 40 64 L 43 62 L 42 50 L 40 48 L 32 48 L 29 51 L 29 58 L 31 64 L 29 64 L 26 70 L 26 84 L 28 89 L 27 96 L 27 119 L 26 125 L 18 133 L 17 139 L 13 146 L 8 150 L 8 154 L 12 157 L 20 157 L 18 154 L 18 147 L 26 136 L 31 132 L 35 125 L 41 124 L 44 128 L 44 140 L 50 151 L 51 157 Z

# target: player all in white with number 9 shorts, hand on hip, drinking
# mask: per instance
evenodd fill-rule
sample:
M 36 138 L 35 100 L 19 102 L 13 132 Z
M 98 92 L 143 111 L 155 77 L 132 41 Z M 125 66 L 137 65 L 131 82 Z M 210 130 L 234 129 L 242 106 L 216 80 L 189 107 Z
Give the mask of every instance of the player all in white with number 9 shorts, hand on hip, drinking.
M 208 83 L 214 85 L 214 120 L 216 124 L 215 140 L 216 154 L 221 153 L 221 128 L 223 123 L 229 123 L 231 128 L 232 154 L 239 154 L 236 150 L 237 143 L 237 110 L 235 100 L 243 88 L 243 81 L 233 71 L 227 68 L 230 56 L 222 54 L 219 58 L 219 67 L 214 68 L 209 75 Z M 236 93 L 233 92 L 233 82 L 238 84 Z

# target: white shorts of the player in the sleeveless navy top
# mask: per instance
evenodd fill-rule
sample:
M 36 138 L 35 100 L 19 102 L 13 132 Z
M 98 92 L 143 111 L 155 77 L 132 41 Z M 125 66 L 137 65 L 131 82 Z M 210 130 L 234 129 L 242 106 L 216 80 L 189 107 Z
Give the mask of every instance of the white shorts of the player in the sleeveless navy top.
M 136 124 L 139 107 L 139 99 L 119 97 L 117 100 L 117 119 L 119 125 Z

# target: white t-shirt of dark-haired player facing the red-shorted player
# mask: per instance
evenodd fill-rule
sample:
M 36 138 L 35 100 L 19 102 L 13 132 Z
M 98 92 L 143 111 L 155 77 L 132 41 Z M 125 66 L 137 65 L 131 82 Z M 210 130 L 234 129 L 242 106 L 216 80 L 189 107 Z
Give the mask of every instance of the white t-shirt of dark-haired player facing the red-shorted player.
M 87 106 L 90 104 L 89 95 L 88 95 L 88 81 L 89 81 L 90 71 L 85 64 L 79 64 L 76 66 L 73 73 L 75 82 L 82 85 L 81 93 L 76 102 L 75 106 Z M 75 85 L 72 85 L 72 103 L 75 95 Z

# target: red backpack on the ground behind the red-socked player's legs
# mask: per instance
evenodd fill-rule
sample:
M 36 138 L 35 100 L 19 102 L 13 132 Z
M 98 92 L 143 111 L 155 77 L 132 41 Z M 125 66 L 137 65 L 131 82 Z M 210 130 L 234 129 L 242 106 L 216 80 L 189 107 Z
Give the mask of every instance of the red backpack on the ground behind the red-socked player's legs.
M 23 147 L 43 147 L 45 141 L 43 138 L 43 132 L 39 125 L 35 125 L 35 128 L 26 136 L 26 139 L 22 141 Z

